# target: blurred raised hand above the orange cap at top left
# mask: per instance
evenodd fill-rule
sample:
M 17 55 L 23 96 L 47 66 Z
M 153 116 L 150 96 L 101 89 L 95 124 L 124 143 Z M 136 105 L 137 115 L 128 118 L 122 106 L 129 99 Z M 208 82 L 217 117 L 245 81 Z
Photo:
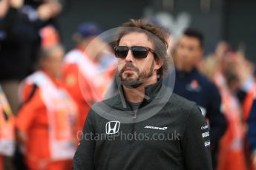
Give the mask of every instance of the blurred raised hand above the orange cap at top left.
M 56 17 L 62 11 L 62 5 L 58 1 L 49 1 L 38 7 L 39 18 L 46 21 L 50 18 Z

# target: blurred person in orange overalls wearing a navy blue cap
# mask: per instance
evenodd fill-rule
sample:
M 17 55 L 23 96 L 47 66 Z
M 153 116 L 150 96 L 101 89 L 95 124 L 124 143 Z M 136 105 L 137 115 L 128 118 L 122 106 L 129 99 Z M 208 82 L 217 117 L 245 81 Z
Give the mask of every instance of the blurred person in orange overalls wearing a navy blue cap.
M 65 56 L 64 78 L 68 92 L 79 106 L 82 130 L 91 105 L 102 101 L 114 79 L 115 61 L 95 23 L 79 25 L 73 36 L 76 47 Z

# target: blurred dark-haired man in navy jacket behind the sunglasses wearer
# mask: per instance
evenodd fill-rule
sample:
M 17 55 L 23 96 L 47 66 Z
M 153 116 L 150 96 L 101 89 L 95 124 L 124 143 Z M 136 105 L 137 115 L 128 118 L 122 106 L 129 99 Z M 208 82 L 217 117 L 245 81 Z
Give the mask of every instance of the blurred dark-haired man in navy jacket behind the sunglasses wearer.
M 202 56 L 203 35 L 197 30 L 186 30 L 177 41 L 174 50 L 176 67 L 174 93 L 196 102 L 209 121 L 211 154 L 215 167 L 218 142 L 226 131 L 226 118 L 221 112 L 221 99 L 217 87 L 197 71 L 197 64 Z

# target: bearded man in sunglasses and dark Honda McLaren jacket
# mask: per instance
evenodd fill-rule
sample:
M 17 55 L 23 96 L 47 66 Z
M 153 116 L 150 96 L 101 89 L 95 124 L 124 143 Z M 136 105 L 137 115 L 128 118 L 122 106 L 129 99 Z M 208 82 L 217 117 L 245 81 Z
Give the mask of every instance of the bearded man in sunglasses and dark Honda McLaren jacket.
M 212 169 L 209 127 L 200 109 L 163 85 L 164 30 L 142 20 L 123 27 L 114 48 L 119 94 L 92 106 L 73 169 Z

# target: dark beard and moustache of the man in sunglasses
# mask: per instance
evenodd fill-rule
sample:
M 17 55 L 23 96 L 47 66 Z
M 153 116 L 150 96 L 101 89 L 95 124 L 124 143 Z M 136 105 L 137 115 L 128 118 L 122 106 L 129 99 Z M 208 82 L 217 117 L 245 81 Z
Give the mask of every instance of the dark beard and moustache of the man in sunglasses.
M 124 73 L 125 69 L 128 69 L 128 68 L 133 69 L 133 71 L 137 73 L 137 76 L 134 76 L 134 73 Z M 132 63 L 127 63 L 120 70 L 119 78 L 121 78 L 122 85 L 128 88 L 137 88 L 138 86 L 141 86 L 144 81 L 146 81 L 148 78 L 150 78 L 153 75 L 153 71 L 154 71 L 154 61 L 152 61 L 151 63 L 149 72 L 146 72 L 145 70 L 140 72 L 140 69 L 137 67 L 134 67 Z

